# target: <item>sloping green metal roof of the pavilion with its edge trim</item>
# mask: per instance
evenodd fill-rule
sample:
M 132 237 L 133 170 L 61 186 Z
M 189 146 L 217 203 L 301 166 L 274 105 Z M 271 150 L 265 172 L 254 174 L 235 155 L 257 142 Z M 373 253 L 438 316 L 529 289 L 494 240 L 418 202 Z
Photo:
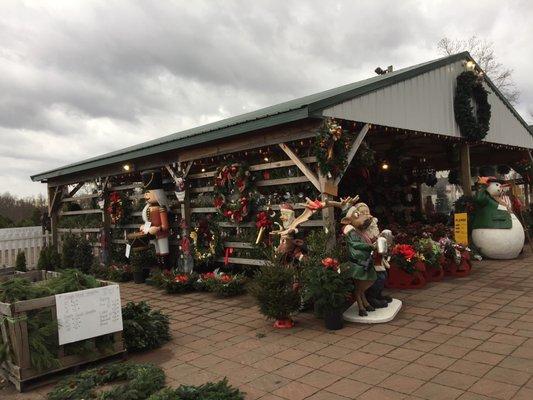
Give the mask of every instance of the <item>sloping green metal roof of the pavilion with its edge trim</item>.
M 52 169 L 31 176 L 33 181 L 43 181 L 67 174 L 86 171 L 109 164 L 131 161 L 139 157 L 150 156 L 163 151 L 175 150 L 196 144 L 206 143 L 213 140 L 223 139 L 234 135 L 251 132 L 257 129 L 267 128 L 308 117 L 321 116 L 321 111 L 329 106 L 341 103 L 345 100 L 361 96 L 365 93 L 392 85 L 394 83 L 423 74 L 434 68 L 438 68 L 461 59 L 472 60 L 468 52 L 462 52 L 437 60 L 399 69 L 385 75 L 374 76 L 359 82 L 339 86 L 334 89 L 315 93 L 295 100 L 280 103 L 274 106 L 262 108 L 257 111 L 242 114 L 236 117 L 223 119 L 207 125 L 173 133 L 158 139 L 126 147 L 111 153 L 89 158 L 60 168 Z M 511 112 L 527 127 L 525 121 L 509 104 L 498 89 L 488 80 L 488 83 L 506 103 Z

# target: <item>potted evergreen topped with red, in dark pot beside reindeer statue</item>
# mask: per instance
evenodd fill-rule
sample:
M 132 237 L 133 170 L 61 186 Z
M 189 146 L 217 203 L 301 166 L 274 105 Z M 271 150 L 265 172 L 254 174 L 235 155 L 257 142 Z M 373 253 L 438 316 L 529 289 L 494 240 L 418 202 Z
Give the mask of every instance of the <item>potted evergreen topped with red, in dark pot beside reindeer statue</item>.
M 341 267 L 336 258 L 324 258 L 319 265 L 306 269 L 304 285 L 306 295 L 315 303 L 315 309 L 324 316 L 326 328 L 341 329 L 346 299 L 354 290 L 348 269 Z

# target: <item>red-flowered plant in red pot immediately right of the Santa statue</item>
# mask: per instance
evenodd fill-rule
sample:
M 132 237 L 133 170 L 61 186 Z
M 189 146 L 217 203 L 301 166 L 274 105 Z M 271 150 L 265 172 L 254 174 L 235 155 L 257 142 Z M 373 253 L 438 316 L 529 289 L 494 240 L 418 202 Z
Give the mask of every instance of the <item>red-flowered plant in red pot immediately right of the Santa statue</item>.
M 386 286 L 394 289 L 418 289 L 426 280 L 423 259 L 410 244 L 397 244 L 392 249 L 389 276 Z

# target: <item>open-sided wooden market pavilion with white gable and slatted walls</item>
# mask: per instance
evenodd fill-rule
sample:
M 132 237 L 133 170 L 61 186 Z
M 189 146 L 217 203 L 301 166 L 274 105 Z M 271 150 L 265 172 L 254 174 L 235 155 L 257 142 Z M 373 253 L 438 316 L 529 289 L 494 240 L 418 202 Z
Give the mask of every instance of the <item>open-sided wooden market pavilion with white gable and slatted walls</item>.
M 385 72 L 32 176 L 48 185 L 53 242 L 83 233 L 103 260 L 122 257 L 146 224 L 143 171 L 161 174 L 170 262 L 182 266 L 263 264 L 254 244 L 273 213 L 291 203 L 298 216 L 306 198 L 360 194 L 401 222 L 390 203 L 426 211 L 422 186 L 441 170 L 471 194 L 475 168 L 523 165 L 529 199 L 530 128 L 468 53 Z M 332 207 L 301 226 L 338 229 Z

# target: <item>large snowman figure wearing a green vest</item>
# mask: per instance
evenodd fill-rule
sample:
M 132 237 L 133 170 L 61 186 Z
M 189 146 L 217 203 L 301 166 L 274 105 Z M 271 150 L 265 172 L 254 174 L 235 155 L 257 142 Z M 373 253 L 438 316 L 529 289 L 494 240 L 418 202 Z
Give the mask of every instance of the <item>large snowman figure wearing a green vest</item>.
M 505 186 L 494 177 L 480 177 L 478 183 L 472 223 L 474 245 L 488 258 L 516 258 L 524 246 L 524 228 L 506 205 Z

